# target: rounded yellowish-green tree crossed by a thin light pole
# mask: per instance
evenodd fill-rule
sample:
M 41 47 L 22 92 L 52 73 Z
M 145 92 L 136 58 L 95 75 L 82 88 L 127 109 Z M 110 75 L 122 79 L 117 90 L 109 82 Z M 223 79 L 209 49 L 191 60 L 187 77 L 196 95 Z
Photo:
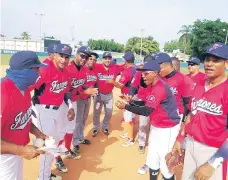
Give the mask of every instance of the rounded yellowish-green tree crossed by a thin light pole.
M 132 37 L 128 39 L 125 51 L 131 51 L 139 55 L 141 51 L 141 38 Z M 159 52 L 159 43 L 152 36 L 144 37 L 142 39 L 142 55 L 145 56 L 157 52 Z

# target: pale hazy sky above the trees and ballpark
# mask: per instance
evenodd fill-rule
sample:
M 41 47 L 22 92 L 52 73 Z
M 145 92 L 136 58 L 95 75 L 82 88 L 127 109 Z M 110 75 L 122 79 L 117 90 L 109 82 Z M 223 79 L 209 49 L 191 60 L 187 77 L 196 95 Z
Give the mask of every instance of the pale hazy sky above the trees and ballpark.
M 0 0 L 1 33 L 12 38 L 27 31 L 33 40 L 54 36 L 62 42 L 153 36 L 164 43 L 179 37 L 196 19 L 228 22 L 228 0 Z M 225 37 L 224 37 L 225 38 Z

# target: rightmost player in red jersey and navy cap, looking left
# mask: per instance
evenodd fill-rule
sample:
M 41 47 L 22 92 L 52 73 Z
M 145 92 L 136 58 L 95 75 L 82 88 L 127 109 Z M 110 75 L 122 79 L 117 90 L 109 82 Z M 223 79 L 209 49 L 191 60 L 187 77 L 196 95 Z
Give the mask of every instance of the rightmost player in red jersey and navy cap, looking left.
M 228 159 L 228 46 L 217 42 L 204 53 L 207 79 L 193 91 L 190 114 L 173 147 L 180 153 L 186 139 L 182 179 L 225 179 Z M 181 154 L 181 153 L 180 153 Z M 224 170 L 227 168 L 224 167 Z

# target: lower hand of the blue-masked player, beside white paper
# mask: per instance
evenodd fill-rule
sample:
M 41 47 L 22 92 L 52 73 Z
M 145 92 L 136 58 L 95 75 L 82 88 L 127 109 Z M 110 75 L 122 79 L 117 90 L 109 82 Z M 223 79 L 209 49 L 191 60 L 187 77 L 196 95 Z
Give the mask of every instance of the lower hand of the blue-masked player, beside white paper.
M 21 156 L 27 160 L 33 159 L 39 156 L 40 154 L 45 154 L 45 152 L 38 150 L 36 147 L 32 145 L 19 146 L 17 151 L 18 156 Z

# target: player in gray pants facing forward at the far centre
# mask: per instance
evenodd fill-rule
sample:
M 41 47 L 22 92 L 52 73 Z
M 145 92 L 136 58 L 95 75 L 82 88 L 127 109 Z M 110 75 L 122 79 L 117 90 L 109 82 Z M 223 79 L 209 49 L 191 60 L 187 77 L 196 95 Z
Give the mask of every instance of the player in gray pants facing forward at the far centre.
M 93 107 L 93 137 L 95 137 L 100 128 L 100 115 L 102 106 L 104 106 L 105 116 L 102 123 L 102 131 L 105 135 L 109 135 L 109 120 L 112 116 L 113 110 L 113 94 L 112 90 L 114 85 L 112 81 L 116 80 L 117 75 L 123 69 L 121 66 L 112 65 L 112 54 L 110 52 L 104 52 L 103 63 L 96 64 L 95 71 L 98 76 L 99 95 L 94 97 Z

